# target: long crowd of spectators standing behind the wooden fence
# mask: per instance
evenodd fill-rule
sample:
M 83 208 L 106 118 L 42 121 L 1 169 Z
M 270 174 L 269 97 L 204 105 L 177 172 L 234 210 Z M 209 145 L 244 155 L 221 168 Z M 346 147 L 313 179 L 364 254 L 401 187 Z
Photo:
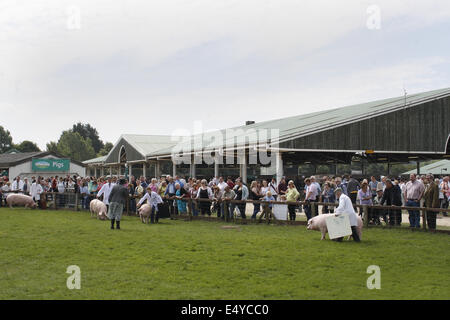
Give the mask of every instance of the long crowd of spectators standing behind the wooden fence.
M 35 199 L 40 208 L 45 208 L 42 194 L 57 193 L 58 203 L 63 206 L 67 194 L 79 194 L 81 206 L 89 209 L 92 199 L 100 198 L 109 206 L 109 196 L 113 187 L 118 183 L 118 177 L 16 177 L 12 182 L 7 178 L 0 178 L 0 196 L 5 200 L 10 192 L 20 192 Z M 311 219 L 313 210 L 318 213 L 318 202 L 322 213 L 333 213 L 338 206 L 336 190 L 348 196 L 353 206 L 368 205 L 371 224 L 386 224 L 395 226 L 402 223 L 401 210 L 378 209 L 379 206 L 408 206 L 425 208 L 448 208 L 450 199 L 449 177 L 434 178 L 432 175 L 416 176 L 411 174 L 409 180 L 405 178 L 389 178 L 375 176 L 358 181 L 351 175 L 342 177 L 323 176 L 316 179 L 311 177 L 295 177 L 291 180 L 282 178 L 277 182 L 275 178 L 254 180 L 250 184 L 241 178 L 214 177 L 210 180 L 175 176 L 164 176 L 159 179 L 147 179 L 143 176 L 132 176 L 123 185 L 128 192 L 128 206 L 131 212 L 144 203 L 150 204 L 159 216 L 173 217 L 185 214 L 192 215 L 216 214 L 219 218 L 229 219 L 236 212 L 242 219 L 246 219 L 247 203 L 232 203 L 224 200 L 262 200 L 262 204 L 254 203 L 251 219 L 258 214 L 271 213 L 270 201 L 288 202 L 289 220 L 295 220 L 297 212 L 305 213 Z M 60 196 L 58 197 L 58 194 Z M 198 201 L 186 201 L 198 199 Z M 292 202 L 304 201 L 303 205 Z M 327 205 L 328 204 L 328 205 Z M 2 201 L 0 201 L 2 205 Z M 409 210 L 409 222 L 412 228 L 420 228 L 420 211 Z M 362 208 L 359 210 L 362 214 Z M 444 213 L 444 215 L 447 215 Z M 427 212 L 427 223 L 430 229 L 436 228 L 436 212 Z

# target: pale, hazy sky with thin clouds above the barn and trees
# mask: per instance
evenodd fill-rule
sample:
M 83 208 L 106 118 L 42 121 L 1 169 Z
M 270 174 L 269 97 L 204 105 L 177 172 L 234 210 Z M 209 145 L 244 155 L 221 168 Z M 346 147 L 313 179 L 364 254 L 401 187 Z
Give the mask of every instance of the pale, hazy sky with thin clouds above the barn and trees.
M 0 125 L 45 150 L 447 88 L 449 30 L 448 0 L 0 0 Z

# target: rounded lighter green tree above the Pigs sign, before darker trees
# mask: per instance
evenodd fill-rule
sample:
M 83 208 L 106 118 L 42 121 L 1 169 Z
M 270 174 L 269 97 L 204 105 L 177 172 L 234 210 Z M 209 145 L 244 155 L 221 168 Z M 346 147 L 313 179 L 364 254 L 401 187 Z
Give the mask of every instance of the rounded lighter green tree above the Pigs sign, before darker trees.
M 78 161 L 95 158 L 96 155 L 91 139 L 84 139 L 72 130 L 63 131 L 57 144 L 57 152 Z

